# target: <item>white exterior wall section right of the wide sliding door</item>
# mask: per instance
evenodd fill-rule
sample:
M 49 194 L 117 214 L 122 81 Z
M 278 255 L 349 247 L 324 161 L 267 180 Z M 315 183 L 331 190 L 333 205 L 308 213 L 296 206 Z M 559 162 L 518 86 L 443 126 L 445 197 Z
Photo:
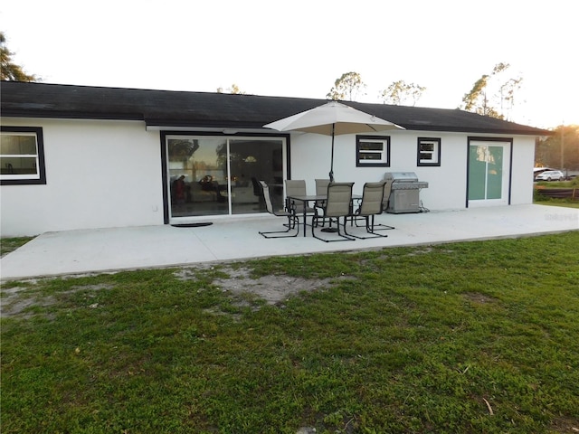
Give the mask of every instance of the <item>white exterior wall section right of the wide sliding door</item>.
M 389 131 L 375 136 L 390 136 L 390 167 L 356 167 L 356 139 L 335 139 L 334 177 L 337 182 L 354 182 L 354 193 L 361 194 L 365 182 L 380 181 L 386 172 L 414 172 L 422 189 L 422 206 L 432 211 L 466 208 L 468 137 L 513 138 L 511 204 L 533 202 L 532 170 L 535 137 L 512 137 L 429 131 Z M 418 137 L 441 138 L 441 165 L 418 166 Z M 330 166 L 331 138 L 315 134 L 291 136 L 291 177 L 312 180 L 308 193 L 315 193 L 315 178 L 327 178 Z

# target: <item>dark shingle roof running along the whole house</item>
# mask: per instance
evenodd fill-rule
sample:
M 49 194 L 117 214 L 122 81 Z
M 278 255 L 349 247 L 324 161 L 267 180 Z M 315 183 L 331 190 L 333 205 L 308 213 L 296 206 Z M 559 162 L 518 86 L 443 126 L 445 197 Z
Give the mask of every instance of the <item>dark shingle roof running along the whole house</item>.
M 327 102 L 264 97 L 2 81 L 3 117 L 143 120 L 159 127 L 261 128 Z M 427 109 L 344 101 L 406 129 L 545 136 L 550 131 L 459 109 Z

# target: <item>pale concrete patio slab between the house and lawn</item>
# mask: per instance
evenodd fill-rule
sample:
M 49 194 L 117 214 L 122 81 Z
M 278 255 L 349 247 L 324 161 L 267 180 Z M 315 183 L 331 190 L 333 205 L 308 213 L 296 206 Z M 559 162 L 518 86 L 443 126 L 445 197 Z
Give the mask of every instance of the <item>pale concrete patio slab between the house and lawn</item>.
M 204 262 L 370 250 L 454 241 L 490 240 L 579 230 L 579 210 L 511 205 L 448 212 L 381 214 L 394 226 L 387 238 L 322 242 L 310 236 L 264 239 L 282 219 L 256 216 L 216 220 L 204 227 L 170 225 L 47 232 L 0 259 L 0 278 L 13 280 L 79 273 L 195 265 Z M 360 231 L 359 229 L 358 231 Z

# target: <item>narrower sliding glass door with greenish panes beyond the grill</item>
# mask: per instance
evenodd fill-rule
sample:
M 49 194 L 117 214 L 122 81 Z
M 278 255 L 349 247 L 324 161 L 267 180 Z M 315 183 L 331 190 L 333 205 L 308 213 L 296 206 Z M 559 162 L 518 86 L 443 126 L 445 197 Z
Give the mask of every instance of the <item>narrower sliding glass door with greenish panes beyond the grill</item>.
M 510 143 L 471 141 L 469 206 L 507 204 Z

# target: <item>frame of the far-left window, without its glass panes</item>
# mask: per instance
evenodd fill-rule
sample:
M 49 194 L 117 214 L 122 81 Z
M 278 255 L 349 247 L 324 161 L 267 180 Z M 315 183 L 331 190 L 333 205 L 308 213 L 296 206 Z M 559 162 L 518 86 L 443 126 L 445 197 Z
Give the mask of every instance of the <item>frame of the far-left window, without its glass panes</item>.
M 44 146 L 43 146 L 43 128 L 42 127 L 2 127 L 0 139 L 5 136 L 26 136 L 34 137 L 36 145 L 36 154 L 13 155 L 2 154 L 4 158 L 30 158 L 34 159 L 36 166 L 35 174 L 0 174 L 0 184 L 46 184 L 46 175 L 44 171 Z

